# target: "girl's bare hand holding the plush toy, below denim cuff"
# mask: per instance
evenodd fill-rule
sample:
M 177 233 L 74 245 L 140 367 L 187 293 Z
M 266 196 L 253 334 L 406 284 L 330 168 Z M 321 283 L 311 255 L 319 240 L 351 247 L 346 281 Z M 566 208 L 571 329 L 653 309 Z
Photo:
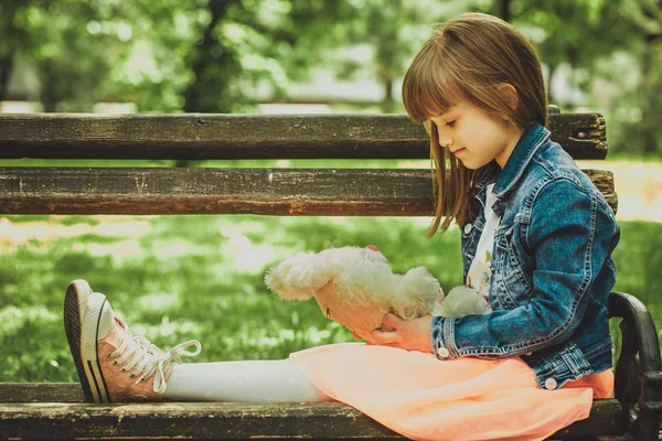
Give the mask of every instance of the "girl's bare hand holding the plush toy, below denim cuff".
M 407 351 L 433 352 L 433 343 L 430 342 L 431 315 L 403 320 L 393 313 L 388 313 L 384 315 L 383 322 L 395 327 L 395 331 L 373 331 L 371 343 Z

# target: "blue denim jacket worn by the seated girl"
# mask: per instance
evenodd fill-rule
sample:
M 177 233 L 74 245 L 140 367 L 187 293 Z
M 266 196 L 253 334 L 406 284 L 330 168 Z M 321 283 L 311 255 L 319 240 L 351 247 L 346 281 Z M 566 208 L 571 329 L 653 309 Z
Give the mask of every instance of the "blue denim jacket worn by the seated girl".
M 611 252 L 620 229 L 602 194 L 534 123 L 503 170 L 495 162 L 476 183 L 461 228 L 465 280 L 484 225 L 485 186 L 494 183 L 500 217 L 492 252 L 492 312 L 433 319 L 439 359 L 521 356 L 538 387 L 611 367 L 608 297 L 616 281 Z

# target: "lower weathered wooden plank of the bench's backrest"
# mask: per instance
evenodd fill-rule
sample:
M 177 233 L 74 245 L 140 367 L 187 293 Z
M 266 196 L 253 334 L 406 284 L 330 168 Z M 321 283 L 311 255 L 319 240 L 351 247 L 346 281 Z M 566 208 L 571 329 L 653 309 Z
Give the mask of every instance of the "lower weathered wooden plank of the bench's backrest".
M 611 172 L 585 172 L 616 211 Z M 429 170 L 0 169 L 0 214 L 431 213 Z

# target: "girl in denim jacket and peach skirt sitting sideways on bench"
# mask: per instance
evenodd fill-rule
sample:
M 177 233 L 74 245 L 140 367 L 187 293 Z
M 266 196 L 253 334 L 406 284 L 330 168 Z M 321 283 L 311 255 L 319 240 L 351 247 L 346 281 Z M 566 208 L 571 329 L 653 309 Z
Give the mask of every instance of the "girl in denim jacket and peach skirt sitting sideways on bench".
M 387 314 L 395 331 L 374 331 L 370 344 L 180 364 L 199 342 L 164 353 L 134 337 L 106 297 L 77 280 L 65 329 L 86 399 L 339 400 L 409 438 L 493 440 L 546 438 L 586 418 L 594 397 L 609 397 L 619 228 L 549 140 L 533 47 L 499 19 L 460 15 L 420 50 L 403 96 L 430 133 L 438 203 L 428 233 L 460 226 L 465 277 L 472 265 L 488 268 L 467 284 L 487 287 L 490 312 Z

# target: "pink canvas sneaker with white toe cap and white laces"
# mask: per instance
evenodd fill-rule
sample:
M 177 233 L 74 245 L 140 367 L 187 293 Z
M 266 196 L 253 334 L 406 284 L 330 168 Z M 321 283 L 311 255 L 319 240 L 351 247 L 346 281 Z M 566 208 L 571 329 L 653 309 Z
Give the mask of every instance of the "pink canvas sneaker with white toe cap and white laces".
M 179 355 L 202 348 L 191 340 L 164 353 L 145 337 L 135 337 L 113 313 L 106 295 L 74 280 L 64 300 L 64 330 L 86 401 L 160 401 Z M 184 351 L 195 346 L 195 352 Z

